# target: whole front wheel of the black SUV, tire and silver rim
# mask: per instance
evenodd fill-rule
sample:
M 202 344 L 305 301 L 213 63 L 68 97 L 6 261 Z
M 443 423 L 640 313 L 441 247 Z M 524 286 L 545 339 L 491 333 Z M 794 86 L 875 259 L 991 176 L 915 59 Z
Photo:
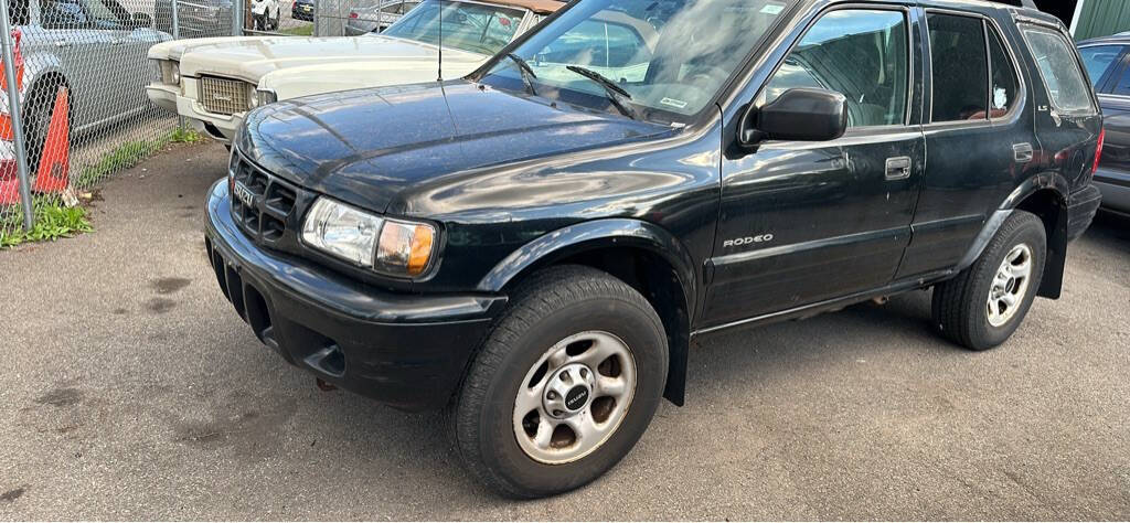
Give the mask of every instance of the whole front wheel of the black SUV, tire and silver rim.
M 574 265 L 533 276 L 514 293 L 453 404 L 467 468 L 488 487 L 527 498 L 600 477 L 651 422 L 667 350 L 659 315 L 625 282 Z

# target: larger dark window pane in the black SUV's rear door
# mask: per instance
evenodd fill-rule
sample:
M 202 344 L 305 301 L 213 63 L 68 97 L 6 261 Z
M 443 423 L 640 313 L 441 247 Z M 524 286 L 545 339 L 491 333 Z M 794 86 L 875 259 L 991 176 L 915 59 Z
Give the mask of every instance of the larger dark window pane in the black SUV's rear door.
M 927 15 L 930 29 L 930 55 L 933 122 L 983 120 L 989 106 L 989 60 L 985 33 L 980 18 L 955 15 Z

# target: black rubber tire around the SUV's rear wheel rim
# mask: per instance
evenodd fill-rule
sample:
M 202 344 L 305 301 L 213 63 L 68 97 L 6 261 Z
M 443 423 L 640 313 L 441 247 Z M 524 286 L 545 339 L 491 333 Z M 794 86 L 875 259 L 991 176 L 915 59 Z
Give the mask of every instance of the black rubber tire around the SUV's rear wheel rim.
M 1031 276 L 1016 311 L 1000 325 L 989 321 L 989 296 L 1005 258 L 1026 245 L 1031 251 Z M 973 265 L 956 278 L 933 287 L 935 325 L 955 343 L 971 350 L 986 350 L 1003 343 L 1024 321 L 1040 289 L 1046 260 L 1044 225 L 1035 215 L 1014 211 L 1000 226 Z M 1012 285 L 1012 284 L 1009 284 Z

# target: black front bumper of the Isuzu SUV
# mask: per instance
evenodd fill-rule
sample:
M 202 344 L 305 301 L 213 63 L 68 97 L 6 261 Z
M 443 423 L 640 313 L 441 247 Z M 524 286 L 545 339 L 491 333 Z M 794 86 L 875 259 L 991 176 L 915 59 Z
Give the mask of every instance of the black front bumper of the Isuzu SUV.
M 403 410 L 443 407 L 505 304 L 497 295 L 403 295 L 255 246 L 225 180 L 208 195 L 206 249 L 224 296 L 288 363 Z

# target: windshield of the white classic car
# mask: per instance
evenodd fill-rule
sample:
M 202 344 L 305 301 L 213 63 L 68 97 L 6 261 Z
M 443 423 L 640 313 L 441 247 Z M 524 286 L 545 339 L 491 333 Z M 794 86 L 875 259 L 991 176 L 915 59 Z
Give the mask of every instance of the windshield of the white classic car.
M 514 37 L 524 11 L 487 3 L 427 0 L 381 33 L 384 36 L 440 44 L 443 6 L 443 46 L 494 54 Z

